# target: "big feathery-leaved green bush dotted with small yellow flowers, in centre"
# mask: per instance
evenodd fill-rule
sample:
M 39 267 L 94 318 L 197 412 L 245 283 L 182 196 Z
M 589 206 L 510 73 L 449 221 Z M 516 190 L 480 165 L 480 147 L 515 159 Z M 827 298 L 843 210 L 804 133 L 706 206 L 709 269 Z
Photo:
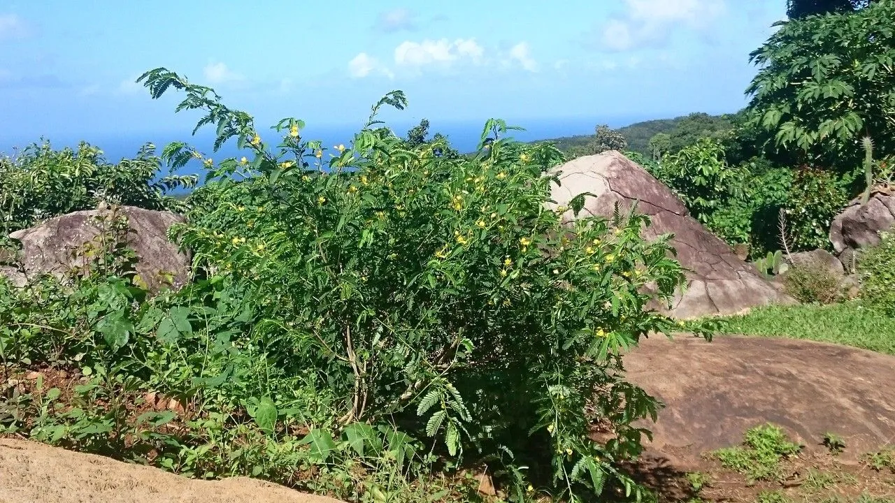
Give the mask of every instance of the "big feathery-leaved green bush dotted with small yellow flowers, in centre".
M 197 128 L 217 125 L 216 148 L 234 139 L 250 152 L 215 162 L 179 142 L 165 157 L 210 166 L 172 235 L 197 267 L 251 292 L 243 319 L 270 341 L 262 358 L 276 371 L 265 375 L 310 383 L 258 397 L 271 438 L 302 414 L 283 404 L 314 389 L 335 399 L 309 425 L 311 448 L 385 425 L 427 442 L 431 467 L 492 465 L 514 500 L 531 496 L 529 483 L 572 501 L 609 482 L 637 490 L 617 463 L 640 452 L 647 431 L 635 422 L 654 419 L 657 402 L 626 382 L 620 354 L 670 327 L 645 309 L 644 286 L 667 300 L 684 279 L 669 236 L 640 237 L 647 217 L 564 226 L 549 208 L 557 149 L 512 141 L 499 120 L 466 158 L 439 156 L 443 139 L 409 145 L 376 120 L 405 107 L 400 91 L 351 145 L 327 149 L 303 139 L 302 121 L 262 132 L 164 68 L 140 81 L 153 98 L 185 93 L 177 109 L 202 111 Z M 592 441 L 595 425 L 611 439 Z

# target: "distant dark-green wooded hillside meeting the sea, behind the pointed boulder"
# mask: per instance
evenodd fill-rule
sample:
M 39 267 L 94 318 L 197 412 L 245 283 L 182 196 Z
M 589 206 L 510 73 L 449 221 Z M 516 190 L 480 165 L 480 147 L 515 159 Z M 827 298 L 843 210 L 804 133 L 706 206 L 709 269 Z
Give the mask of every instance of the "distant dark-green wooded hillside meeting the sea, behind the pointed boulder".
M 719 137 L 729 132 L 733 129 L 734 122 L 739 114 L 708 115 L 697 112 L 690 115 L 681 115 L 673 119 L 654 119 L 652 121 L 626 125 L 618 128 L 616 131 L 625 136 L 628 149 L 640 152 L 644 156 L 650 156 L 652 155 L 650 140 L 657 133 L 667 133 L 670 137 L 671 151 L 678 151 L 694 144 L 701 137 Z M 555 143 L 558 149 L 568 152 L 576 147 L 585 147 L 592 138 L 592 134 L 580 134 L 541 141 Z M 541 141 L 538 142 L 540 143 Z

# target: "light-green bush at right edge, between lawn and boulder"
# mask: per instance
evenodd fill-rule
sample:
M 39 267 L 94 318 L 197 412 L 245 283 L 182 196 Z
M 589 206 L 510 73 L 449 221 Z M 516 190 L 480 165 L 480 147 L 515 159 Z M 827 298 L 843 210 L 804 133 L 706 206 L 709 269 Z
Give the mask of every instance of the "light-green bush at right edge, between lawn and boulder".
M 895 234 L 881 234 L 877 246 L 866 249 L 857 260 L 863 284 L 861 298 L 866 303 L 895 316 Z

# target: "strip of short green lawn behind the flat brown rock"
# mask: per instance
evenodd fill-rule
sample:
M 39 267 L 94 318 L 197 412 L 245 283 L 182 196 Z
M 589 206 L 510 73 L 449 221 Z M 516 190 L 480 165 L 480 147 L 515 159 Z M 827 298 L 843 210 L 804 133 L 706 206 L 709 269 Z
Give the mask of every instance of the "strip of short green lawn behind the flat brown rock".
M 719 336 L 809 339 L 895 355 L 895 318 L 855 302 L 773 306 L 712 320 L 720 321 Z

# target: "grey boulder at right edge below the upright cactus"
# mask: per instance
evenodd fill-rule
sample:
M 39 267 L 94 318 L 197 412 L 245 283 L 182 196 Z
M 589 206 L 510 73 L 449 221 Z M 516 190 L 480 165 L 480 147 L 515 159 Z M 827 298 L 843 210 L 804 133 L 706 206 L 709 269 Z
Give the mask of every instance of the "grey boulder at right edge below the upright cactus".
M 852 200 L 833 218 L 830 242 L 838 253 L 880 243 L 880 233 L 895 226 L 895 194 L 877 192 L 861 204 Z

